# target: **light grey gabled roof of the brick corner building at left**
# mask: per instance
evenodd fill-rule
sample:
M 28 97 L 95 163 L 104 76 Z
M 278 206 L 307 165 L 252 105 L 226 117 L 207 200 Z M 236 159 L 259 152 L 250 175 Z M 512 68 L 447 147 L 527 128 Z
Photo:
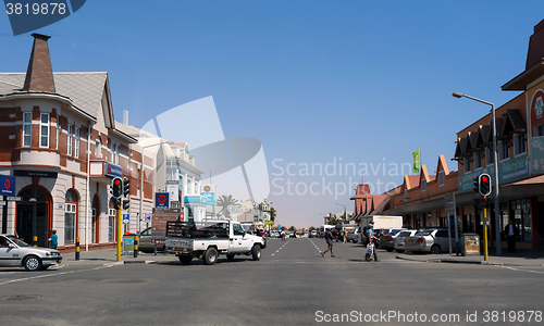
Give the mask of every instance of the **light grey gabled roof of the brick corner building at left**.
M 22 90 L 25 76 L 24 73 L 0 73 L 0 97 L 11 93 L 26 93 Z M 107 84 L 108 73 L 53 73 L 53 79 L 58 95 L 70 98 L 74 106 L 95 120 L 99 114 L 104 91 L 107 91 L 111 103 Z

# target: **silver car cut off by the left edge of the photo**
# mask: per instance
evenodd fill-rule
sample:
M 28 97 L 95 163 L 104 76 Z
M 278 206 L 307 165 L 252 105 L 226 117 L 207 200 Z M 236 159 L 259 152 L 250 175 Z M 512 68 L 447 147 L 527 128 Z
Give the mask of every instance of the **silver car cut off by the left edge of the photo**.
M 0 266 L 23 266 L 26 271 L 47 269 L 62 262 L 57 249 L 32 247 L 11 236 L 0 235 Z

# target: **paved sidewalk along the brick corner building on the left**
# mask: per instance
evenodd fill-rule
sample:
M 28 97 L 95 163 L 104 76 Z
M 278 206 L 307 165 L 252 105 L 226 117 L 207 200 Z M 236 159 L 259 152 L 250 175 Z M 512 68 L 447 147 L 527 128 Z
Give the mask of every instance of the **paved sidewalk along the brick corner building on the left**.
M 139 252 L 137 258 L 134 254 L 121 254 L 121 261 L 118 262 L 116 249 L 81 251 L 79 260 L 75 260 L 75 252 L 63 253 L 61 265 L 67 266 L 101 266 L 101 265 L 121 265 L 121 264 L 152 264 L 157 262 L 177 262 L 177 258 L 173 254 L 158 252 L 153 253 Z

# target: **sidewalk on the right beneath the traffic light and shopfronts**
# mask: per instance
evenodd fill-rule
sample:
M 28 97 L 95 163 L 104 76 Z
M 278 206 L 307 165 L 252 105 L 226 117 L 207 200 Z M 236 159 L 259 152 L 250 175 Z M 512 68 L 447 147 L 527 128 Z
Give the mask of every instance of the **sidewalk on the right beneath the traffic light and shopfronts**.
M 544 266 L 544 250 L 541 249 L 518 249 L 516 254 L 508 253 L 503 249 L 503 254 L 497 256 L 495 249 L 489 251 L 487 261 L 481 255 L 456 256 L 455 253 L 399 253 L 396 259 L 428 262 L 428 263 L 458 263 L 458 264 L 481 264 L 481 265 L 504 265 L 504 266 Z

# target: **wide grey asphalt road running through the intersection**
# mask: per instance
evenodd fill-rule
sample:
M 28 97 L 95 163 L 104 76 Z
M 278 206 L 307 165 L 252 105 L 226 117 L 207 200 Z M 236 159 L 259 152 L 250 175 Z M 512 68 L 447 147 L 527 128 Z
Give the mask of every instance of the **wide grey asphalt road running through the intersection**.
M 542 324 L 542 266 L 422 263 L 385 251 L 379 251 L 381 262 L 368 263 L 360 244 L 336 243 L 334 259 L 322 258 L 324 249 L 321 239 L 271 239 L 259 262 L 243 256 L 186 266 L 166 258 L 0 269 L 0 314 L 5 325 Z M 519 323 L 520 312 L 531 310 L 541 314 L 528 323 L 526 312 Z M 485 311 L 497 312 L 496 323 L 493 313 L 484 323 Z

